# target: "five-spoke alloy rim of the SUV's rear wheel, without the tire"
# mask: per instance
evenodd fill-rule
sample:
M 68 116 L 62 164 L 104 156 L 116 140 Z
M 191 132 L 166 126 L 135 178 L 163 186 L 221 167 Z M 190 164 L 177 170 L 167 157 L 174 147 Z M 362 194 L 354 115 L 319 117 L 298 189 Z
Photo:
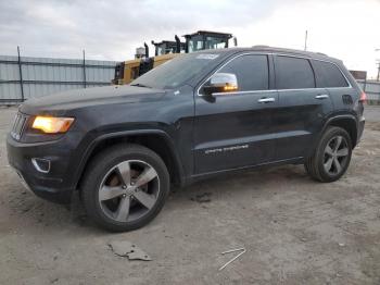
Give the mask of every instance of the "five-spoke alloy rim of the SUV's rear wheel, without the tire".
M 349 162 L 349 144 L 343 136 L 332 137 L 325 148 L 324 168 L 329 175 L 340 174 Z

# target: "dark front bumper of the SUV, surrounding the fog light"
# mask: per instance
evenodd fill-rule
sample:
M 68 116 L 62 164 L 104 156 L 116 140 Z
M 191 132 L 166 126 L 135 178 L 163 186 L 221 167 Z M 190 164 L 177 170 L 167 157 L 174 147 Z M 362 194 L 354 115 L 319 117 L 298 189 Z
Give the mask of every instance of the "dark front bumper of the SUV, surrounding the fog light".
M 71 156 L 69 150 L 62 144 L 64 141 L 61 140 L 23 144 L 9 135 L 7 151 L 10 165 L 15 169 L 27 188 L 49 201 L 68 203 L 74 190 L 71 175 L 67 175 Z M 31 162 L 33 158 L 51 161 L 51 171 L 39 172 Z

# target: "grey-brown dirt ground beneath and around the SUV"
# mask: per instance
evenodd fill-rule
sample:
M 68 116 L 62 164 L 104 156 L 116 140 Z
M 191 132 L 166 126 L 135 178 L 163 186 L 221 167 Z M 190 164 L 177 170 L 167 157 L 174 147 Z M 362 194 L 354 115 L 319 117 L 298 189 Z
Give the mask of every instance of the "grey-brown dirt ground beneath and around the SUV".
M 4 146 L 14 113 L 0 109 L 0 284 L 380 284 L 380 108 L 339 182 L 291 165 L 202 182 L 125 234 L 93 226 L 77 197 L 65 208 L 23 189 Z M 112 240 L 153 261 L 116 257 Z

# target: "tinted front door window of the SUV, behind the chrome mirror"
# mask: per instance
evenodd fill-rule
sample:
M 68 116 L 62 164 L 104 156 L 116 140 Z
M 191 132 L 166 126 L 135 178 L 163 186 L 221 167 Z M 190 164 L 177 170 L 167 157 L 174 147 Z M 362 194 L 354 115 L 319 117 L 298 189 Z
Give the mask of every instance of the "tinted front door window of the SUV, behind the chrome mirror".
M 266 90 L 269 87 L 267 55 L 242 55 L 233 59 L 218 73 L 233 73 L 239 90 Z

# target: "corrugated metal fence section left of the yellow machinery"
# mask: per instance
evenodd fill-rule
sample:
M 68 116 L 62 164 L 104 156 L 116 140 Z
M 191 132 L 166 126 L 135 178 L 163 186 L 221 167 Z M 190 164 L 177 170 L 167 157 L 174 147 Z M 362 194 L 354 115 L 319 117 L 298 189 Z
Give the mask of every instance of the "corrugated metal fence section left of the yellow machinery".
M 68 89 L 105 86 L 116 62 L 0 55 L 0 104 Z

